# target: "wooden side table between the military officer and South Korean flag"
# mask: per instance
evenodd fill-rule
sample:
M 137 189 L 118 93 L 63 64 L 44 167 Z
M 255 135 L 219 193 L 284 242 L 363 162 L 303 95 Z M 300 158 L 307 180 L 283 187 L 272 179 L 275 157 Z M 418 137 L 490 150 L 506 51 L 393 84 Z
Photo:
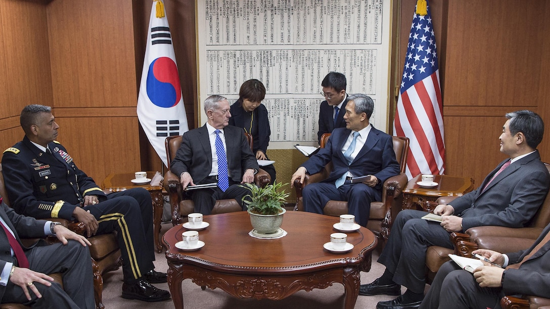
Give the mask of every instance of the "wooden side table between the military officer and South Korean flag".
M 153 179 L 156 172 L 147 172 L 147 178 Z M 162 243 L 159 239 L 161 231 L 162 211 L 164 198 L 162 197 L 162 185 L 152 186 L 151 184 L 135 185 L 130 180 L 134 179 L 134 173 L 109 174 L 103 180 L 102 189 L 109 192 L 120 192 L 136 187 L 142 187 L 149 191 L 153 200 L 153 236 L 155 237 L 155 248 L 158 253 L 162 252 Z

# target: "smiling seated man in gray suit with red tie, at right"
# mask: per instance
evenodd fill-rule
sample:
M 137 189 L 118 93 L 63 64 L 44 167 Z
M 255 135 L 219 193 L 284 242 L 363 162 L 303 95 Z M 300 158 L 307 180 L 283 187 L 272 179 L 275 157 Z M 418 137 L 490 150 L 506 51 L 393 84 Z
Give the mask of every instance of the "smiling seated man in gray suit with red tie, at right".
M 544 123 L 531 111 L 506 114 L 500 134 L 500 152 L 509 158 L 501 162 L 476 190 L 438 205 L 435 214 L 441 224 L 421 219 L 426 212 L 405 210 L 395 218 L 388 243 L 378 258 L 386 266 L 382 277 L 361 285 L 362 295 L 400 295 L 378 302 L 377 308 L 416 308 L 425 288 L 424 264 L 428 246 L 453 248 L 449 235 L 482 225 L 523 227 L 537 212 L 550 186 L 550 175 L 541 162 L 538 144 Z

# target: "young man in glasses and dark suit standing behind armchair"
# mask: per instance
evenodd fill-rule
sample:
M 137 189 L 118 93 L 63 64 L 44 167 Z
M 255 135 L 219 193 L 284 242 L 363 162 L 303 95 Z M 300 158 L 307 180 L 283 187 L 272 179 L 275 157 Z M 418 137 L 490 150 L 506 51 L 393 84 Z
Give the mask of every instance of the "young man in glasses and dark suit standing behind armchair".
M 346 127 L 344 111 L 346 103 L 348 103 L 344 74 L 328 73 L 327 76 L 324 76 L 321 86 L 323 87 L 321 95 L 325 98 L 325 101 L 321 102 L 319 109 L 319 131 L 317 131 L 319 143 L 321 143 L 323 134 L 332 133 L 335 128 Z

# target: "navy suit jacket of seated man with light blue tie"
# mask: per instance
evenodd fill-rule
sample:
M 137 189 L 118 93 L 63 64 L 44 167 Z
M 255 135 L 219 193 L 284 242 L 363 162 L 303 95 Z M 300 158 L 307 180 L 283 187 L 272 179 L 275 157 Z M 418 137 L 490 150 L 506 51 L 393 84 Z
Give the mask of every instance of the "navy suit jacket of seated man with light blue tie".
M 375 175 L 380 180 L 376 189 L 381 189 L 386 179 L 399 174 L 399 163 L 395 159 L 392 136 L 372 127 L 365 145 L 348 169 L 348 161 L 344 158 L 342 147 L 350 133 L 351 130 L 345 128 L 334 129 L 327 145 L 302 166 L 308 173 L 315 174 L 332 161 L 332 172 L 323 182 L 335 181 L 349 170 L 356 176 Z

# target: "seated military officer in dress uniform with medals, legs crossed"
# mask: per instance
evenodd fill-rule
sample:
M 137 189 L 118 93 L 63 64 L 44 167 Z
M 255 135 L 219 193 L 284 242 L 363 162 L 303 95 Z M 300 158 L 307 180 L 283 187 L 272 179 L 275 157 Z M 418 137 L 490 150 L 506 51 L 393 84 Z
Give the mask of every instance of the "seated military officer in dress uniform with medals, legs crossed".
M 150 283 L 166 282 L 156 272 L 151 196 L 138 188 L 109 195 L 80 170 L 56 141 L 52 109 L 28 105 L 20 116 L 23 141 L 4 151 L 2 168 L 12 207 L 25 216 L 64 218 L 86 224 L 88 236 L 117 231 L 122 253 L 122 297 L 162 301 L 170 293 Z

